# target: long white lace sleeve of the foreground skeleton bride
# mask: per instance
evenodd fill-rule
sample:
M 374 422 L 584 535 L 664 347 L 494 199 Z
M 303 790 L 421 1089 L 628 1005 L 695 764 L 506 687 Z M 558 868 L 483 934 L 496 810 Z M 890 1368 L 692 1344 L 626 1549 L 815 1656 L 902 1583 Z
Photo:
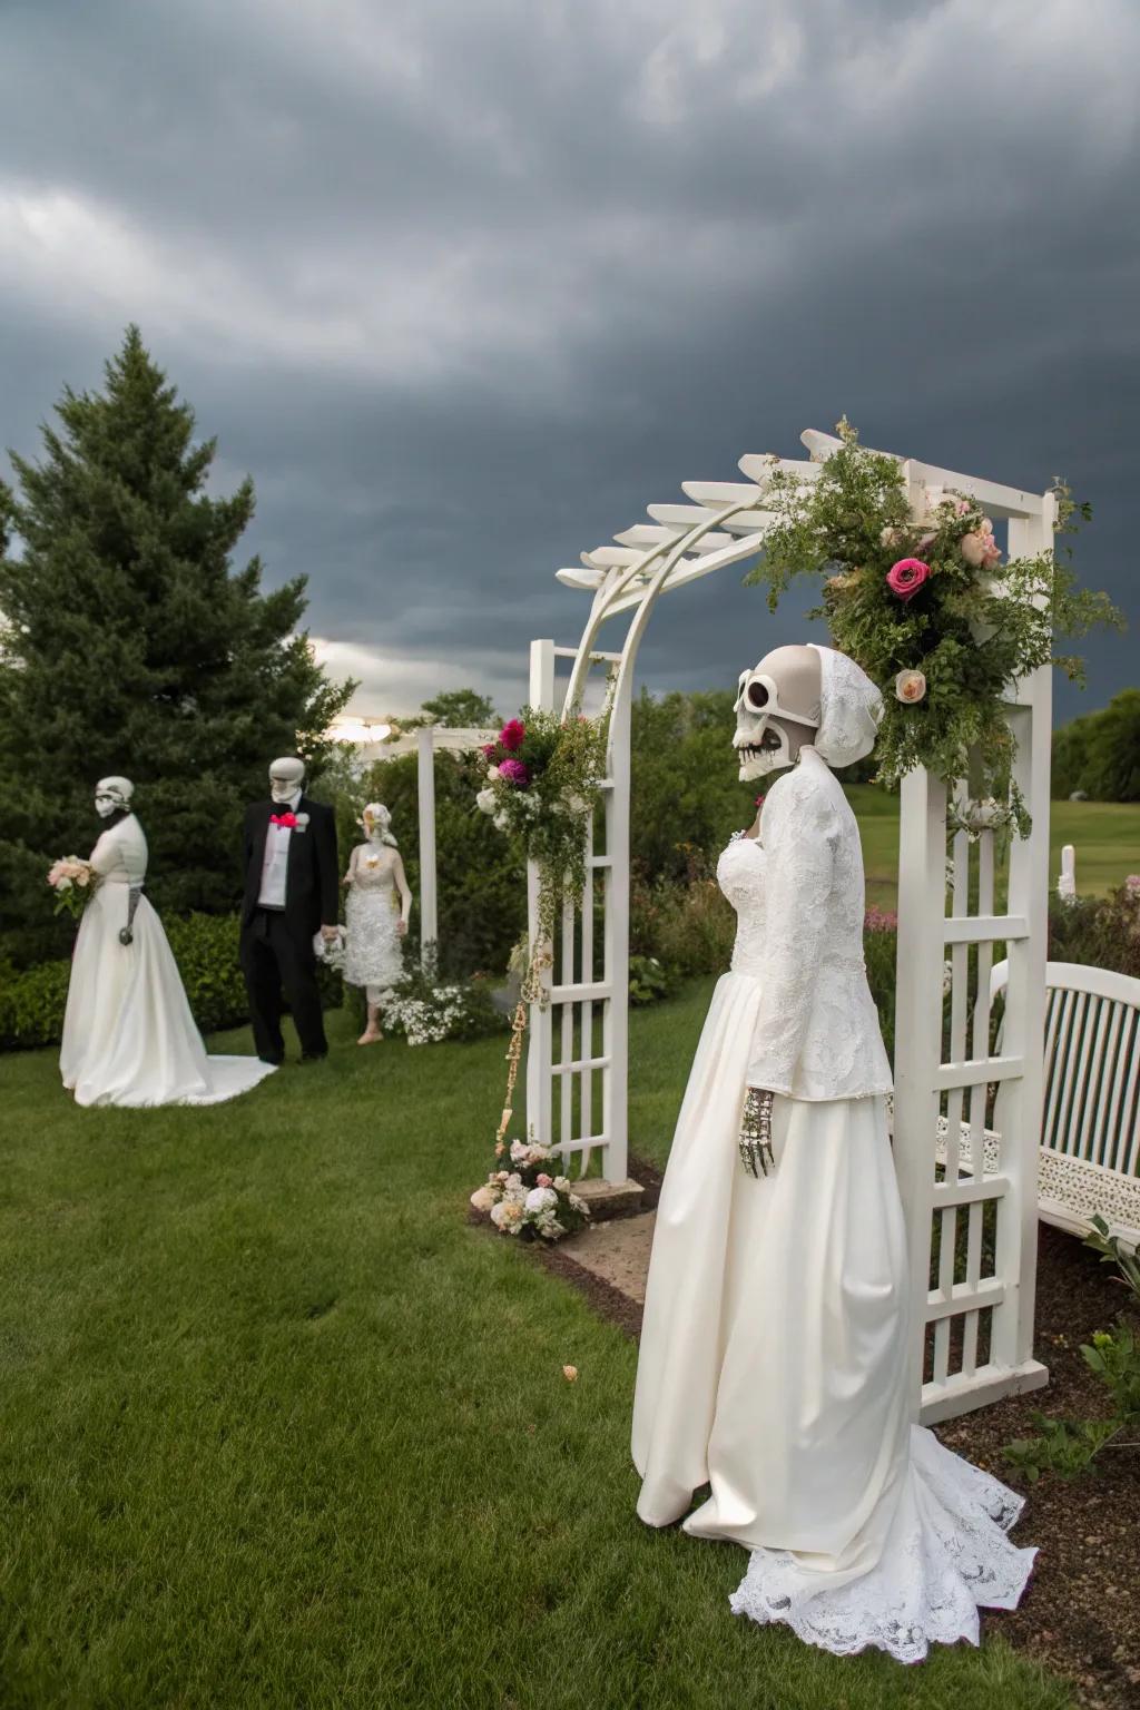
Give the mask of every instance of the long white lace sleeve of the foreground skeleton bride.
M 839 821 L 832 804 L 793 773 L 764 804 L 767 855 L 764 971 L 749 1086 L 791 1094 L 822 949 Z

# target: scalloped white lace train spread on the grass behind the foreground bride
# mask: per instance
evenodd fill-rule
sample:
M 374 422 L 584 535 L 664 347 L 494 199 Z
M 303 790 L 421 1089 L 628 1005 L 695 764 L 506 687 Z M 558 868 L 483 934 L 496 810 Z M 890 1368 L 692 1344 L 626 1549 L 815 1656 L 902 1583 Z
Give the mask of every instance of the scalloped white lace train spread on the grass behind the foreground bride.
M 733 1614 L 786 1621 L 810 1645 L 868 1645 L 921 1662 L 931 1643 L 978 1643 L 978 1609 L 1014 1609 L 1036 1549 L 1005 1536 L 1022 1498 L 911 1428 L 909 1467 L 879 1563 L 855 1578 L 820 1573 L 786 1549 L 754 1549 Z M 839 1583 L 837 1583 L 839 1582 Z

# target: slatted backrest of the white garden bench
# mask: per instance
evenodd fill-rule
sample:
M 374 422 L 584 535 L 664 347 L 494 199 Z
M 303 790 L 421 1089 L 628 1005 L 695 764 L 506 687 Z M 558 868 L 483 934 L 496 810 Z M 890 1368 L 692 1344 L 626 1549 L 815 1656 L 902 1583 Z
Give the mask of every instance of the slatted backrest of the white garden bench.
M 1005 990 L 1008 963 L 990 976 Z M 1041 1144 L 1135 1176 L 1140 1171 L 1140 980 L 1080 963 L 1046 964 Z

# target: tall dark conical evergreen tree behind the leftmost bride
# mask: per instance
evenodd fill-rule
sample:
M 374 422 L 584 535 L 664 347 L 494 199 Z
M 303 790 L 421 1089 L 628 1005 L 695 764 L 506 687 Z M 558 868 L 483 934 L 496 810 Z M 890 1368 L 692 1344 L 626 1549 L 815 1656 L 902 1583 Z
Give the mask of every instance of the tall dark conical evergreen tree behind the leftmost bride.
M 44 872 L 87 853 L 92 787 L 135 781 L 162 910 L 229 910 L 241 817 L 268 761 L 320 770 L 354 684 L 328 682 L 297 631 L 306 578 L 261 592 L 232 566 L 253 482 L 207 494 L 215 441 L 144 349 L 137 327 L 103 392 L 63 392 L 38 463 L 0 482 L 0 952 L 55 954 Z M 12 551 L 12 542 L 19 549 Z

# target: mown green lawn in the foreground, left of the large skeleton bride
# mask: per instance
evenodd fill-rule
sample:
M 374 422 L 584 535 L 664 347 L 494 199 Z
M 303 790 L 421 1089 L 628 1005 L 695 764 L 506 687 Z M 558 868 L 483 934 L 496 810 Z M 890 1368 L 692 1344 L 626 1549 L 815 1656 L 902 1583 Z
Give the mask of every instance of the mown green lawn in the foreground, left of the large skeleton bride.
M 634 1016 L 656 1158 L 704 997 Z M 735 1621 L 743 1553 L 634 1517 L 634 1347 L 465 1224 L 501 1041 L 332 1019 L 214 1110 L 0 1062 L 5 1710 L 1070 1703 L 1000 1636 L 904 1671 Z

